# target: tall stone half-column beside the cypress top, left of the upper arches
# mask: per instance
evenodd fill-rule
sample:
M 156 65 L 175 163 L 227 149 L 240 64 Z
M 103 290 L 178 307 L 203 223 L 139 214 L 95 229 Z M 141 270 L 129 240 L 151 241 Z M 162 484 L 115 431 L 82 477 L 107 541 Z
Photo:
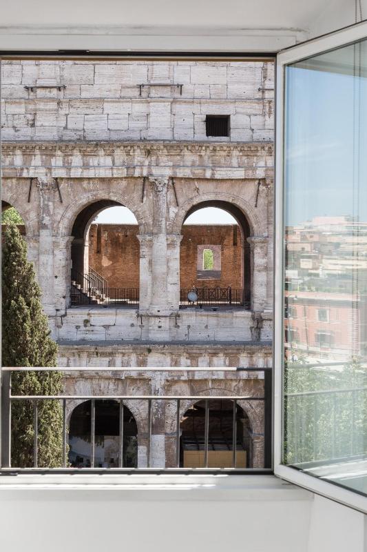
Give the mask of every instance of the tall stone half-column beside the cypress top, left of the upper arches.
M 42 303 L 46 314 L 54 315 L 54 248 L 53 211 L 56 182 L 50 177 L 37 179 L 40 201 L 39 266 L 38 277 L 42 289 Z

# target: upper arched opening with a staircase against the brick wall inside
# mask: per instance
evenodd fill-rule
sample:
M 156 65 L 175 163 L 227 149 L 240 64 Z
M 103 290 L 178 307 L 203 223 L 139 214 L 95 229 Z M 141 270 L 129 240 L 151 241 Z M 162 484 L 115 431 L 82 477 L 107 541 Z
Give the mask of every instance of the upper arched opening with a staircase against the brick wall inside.
M 138 233 L 136 217 L 117 201 L 81 210 L 72 227 L 72 305 L 138 305 Z

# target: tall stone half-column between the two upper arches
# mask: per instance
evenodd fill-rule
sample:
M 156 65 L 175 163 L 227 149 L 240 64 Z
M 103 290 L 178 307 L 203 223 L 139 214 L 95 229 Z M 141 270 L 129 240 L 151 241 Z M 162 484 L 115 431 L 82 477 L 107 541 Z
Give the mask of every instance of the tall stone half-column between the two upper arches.
M 169 314 L 167 297 L 167 185 L 168 178 L 149 177 L 153 186 L 153 242 L 151 246 L 151 315 Z

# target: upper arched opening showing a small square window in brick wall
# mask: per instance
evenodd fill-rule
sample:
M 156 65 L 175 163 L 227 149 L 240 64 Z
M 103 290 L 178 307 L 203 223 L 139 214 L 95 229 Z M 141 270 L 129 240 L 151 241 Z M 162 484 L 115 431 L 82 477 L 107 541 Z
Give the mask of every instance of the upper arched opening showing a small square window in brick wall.
M 250 308 L 251 231 L 242 210 L 202 201 L 187 212 L 181 232 L 180 306 Z

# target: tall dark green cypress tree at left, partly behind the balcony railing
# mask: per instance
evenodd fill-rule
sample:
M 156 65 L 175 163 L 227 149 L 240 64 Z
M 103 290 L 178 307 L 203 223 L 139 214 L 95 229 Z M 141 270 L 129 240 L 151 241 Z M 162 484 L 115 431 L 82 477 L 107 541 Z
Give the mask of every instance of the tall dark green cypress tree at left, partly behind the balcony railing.
M 50 338 L 48 318 L 42 311 L 41 288 L 27 260 L 27 246 L 17 226 L 3 233 L 2 255 L 2 357 L 3 366 L 55 366 L 57 345 Z M 58 395 L 59 372 L 12 373 L 13 395 Z M 62 408 L 59 401 L 38 404 L 38 465 L 62 465 Z M 12 402 L 12 466 L 33 465 L 33 404 Z

